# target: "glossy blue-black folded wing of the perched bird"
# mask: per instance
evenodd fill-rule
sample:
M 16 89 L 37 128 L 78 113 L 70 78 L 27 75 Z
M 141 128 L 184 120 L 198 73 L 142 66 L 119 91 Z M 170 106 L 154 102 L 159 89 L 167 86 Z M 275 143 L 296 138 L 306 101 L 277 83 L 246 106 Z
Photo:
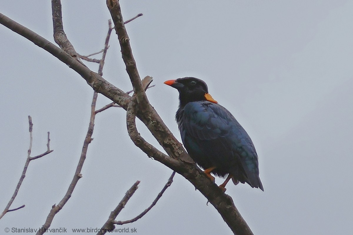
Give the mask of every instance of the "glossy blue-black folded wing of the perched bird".
M 188 151 L 195 148 L 200 153 L 202 151 L 209 161 L 221 165 L 223 169 L 232 167 L 232 164 L 240 165 L 247 179 L 240 177 L 239 180 L 262 189 L 254 144 L 225 107 L 209 101 L 190 102 L 179 113 L 179 120 L 177 113 L 177 121 Z M 236 168 L 233 167 L 234 171 Z

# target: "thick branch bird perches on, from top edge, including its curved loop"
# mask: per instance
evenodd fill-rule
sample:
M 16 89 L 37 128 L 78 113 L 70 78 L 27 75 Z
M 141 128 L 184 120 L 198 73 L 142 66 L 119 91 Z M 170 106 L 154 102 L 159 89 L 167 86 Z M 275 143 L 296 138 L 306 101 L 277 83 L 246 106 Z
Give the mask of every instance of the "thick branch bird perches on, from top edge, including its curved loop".
M 234 234 L 251 235 L 252 231 L 235 207 L 233 199 L 229 195 L 221 192 L 217 185 L 212 183 L 196 166 L 195 162 L 193 162 L 185 149 L 181 146 L 181 143 L 172 135 L 158 113 L 150 105 L 137 72 L 136 62 L 132 56 L 129 42 L 130 38 L 127 35 L 122 20 L 119 1 L 107 0 L 107 6 L 115 25 L 115 31 L 118 35 L 121 55 L 126 65 L 126 71 L 134 89 L 134 95 L 131 103 L 128 104 L 126 115 L 127 129 L 131 140 L 148 156 L 153 156 L 154 159 L 162 162 L 174 171 L 177 171 L 189 180 L 217 209 Z M 134 96 L 136 96 L 136 101 L 134 100 Z M 134 123 L 135 110 L 136 116 L 147 126 L 170 157 L 160 153 L 139 135 Z

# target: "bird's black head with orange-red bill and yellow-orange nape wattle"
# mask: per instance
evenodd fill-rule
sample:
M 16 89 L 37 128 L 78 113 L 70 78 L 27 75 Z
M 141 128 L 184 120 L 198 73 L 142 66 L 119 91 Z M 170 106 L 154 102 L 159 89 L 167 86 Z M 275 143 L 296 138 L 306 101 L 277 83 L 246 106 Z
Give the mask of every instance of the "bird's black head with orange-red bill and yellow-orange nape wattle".
M 208 93 L 207 85 L 198 78 L 185 77 L 177 80 L 168 80 L 164 84 L 178 89 L 180 106 L 185 106 L 189 102 L 208 100 L 217 103 Z

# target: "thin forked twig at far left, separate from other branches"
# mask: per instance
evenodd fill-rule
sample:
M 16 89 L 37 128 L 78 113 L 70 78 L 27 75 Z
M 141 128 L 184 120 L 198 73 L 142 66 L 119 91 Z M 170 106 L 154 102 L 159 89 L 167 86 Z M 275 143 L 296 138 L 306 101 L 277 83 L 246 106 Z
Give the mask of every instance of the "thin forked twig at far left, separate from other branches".
M 23 167 L 22 175 L 21 175 L 21 177 L 20 177 L 20 179 L 19 179 L 19 181 L 17 183 L 16 189 L 15 189 L 10 201 L 7 203 L 4 211 L 2 211 L 2 213 L 0 215 L 0 219 L 2 217 L 4 217 L 4 215 L 7 212 L 9 212 L 9 211 L 15 211 L 15 210 L 18 210 L 18 209 L 21 209 L 21 208 L 25 207 L 25 205 L 22 205 L 22 206 L 19 206 L 18 208 L 15 208 L 15 209 L 9 209 L 10 206 L 12 205 L 12 203 L 13 203 L 13 200 L 17 196 L 17 193 L 18 193 L 18 191 L 19 191 L 19 189 L 20 189 L 20 187 L 22 185 L 22 182 L 23 182 L 24 178 L 26 177 L 26 172 L 27 172 L 27 168 L 28 168 L 28 165 L 29 165 L 30 161 L 35 160 L 37 158 L 40 158 L 42 156 L 45 156 L 45 155 L 51 153 L 52 151 L 54 151 L 54 150 L 50 150 L 50 146 L 49 146 L 50 138 L 49 138 L 49 132 L 48 132 L 48 143 L 47 143 L 48 150 L 46 152 L 40 154 L 40 155 L 37 155 L 35 157 L 31 157 L 32 142 L 33 142 L 33 134 L 32 134 L 32 132 L 33 132 L 33 123 L 32 123 L 32 117 L 31 116 L 28 116 L 28 123 L 29 123 L 29 148 L 28 148 L 28 151 L 27 151 L 27 159 L 26 159 L 25 165 Z

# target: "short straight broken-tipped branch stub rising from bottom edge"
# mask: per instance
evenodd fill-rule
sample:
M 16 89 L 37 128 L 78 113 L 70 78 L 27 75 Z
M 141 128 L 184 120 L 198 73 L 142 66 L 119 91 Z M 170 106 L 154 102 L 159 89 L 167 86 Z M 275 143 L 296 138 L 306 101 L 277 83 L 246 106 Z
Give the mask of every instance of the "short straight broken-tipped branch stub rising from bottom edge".
M 115 220 L 116 216 L 119 215 L 120 211 L 125 207 L 128 200 L 136 192 L 139 183 L 140 183 L 140 181 L 137 180 L 136 183 L 134 183 L 131 186 L 131 188 L 126 191 L 125 196 L 121 199 L 120 203 L 116 206 L 116 208 L 112 212 L 110 212 L 110 215 L 109 215 L 109 218 L 107 219 L 107 222 L 104 223 L 101 231 L 99 233 L 97 233 L 97 235 L 106 234 L 107 232 L 110 232 L 115 228 L 114 220 Z

